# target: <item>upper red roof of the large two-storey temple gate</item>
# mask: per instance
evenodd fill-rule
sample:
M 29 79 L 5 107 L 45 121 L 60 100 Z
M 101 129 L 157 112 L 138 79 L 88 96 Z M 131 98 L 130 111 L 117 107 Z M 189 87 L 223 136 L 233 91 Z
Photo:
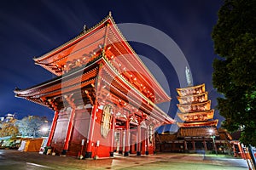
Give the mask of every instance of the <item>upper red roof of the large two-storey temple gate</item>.
M 64 76 L 87 65 L 100 54 L 108 58 L 115 70 L 125 77 L 131 86 L 143 92 L 154 103 L 171 100 L 125 40 L 111 14 L 78 37 L 34 61 L 56 76 Z

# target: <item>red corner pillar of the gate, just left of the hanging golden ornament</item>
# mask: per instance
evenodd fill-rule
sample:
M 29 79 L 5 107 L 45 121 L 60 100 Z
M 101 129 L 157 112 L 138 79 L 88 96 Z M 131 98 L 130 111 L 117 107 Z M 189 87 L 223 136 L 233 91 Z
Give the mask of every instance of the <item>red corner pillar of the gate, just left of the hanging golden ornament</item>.
M 95 127 L 95 121 L 96 121 L 96 110 L 97 110 L 97 104 L 93 105 L 93 109 L 90 115 L 90 127 L 89 127 L 88 139 L 87 139 L 87 148 L 86 148 L 85 158 L 91 158 L 92 156 L 92 144 L 93 144 L 92 139 L 93 139 L 93 133 L 94 133 L 94 127 Z

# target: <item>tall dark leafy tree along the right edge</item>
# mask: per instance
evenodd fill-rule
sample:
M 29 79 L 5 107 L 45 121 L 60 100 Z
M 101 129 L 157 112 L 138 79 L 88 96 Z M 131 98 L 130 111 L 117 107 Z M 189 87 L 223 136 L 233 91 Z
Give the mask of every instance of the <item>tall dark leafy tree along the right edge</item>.
M 241 142 L 256 146 L 256 1 L 225 0 L 212 31 L 213 87 L 228 130 L 241 129 Z

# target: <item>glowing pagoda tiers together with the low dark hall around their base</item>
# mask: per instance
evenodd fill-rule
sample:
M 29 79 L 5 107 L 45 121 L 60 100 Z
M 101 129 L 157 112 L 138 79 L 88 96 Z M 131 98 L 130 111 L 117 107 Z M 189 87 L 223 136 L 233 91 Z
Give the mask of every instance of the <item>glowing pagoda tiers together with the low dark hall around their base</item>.
M 211 109 L 205 84 L 177 88 L 177 94 L 180 111 L 177 116 L 183 122 L 177 122 L 177 133 L 157 135 L 157 150 L 217 150 L 222 153 L 224 146 L 230 147 L 230 134 L 224 129 L 217 129 L 218 119 L 213 119 L 214 110 Z

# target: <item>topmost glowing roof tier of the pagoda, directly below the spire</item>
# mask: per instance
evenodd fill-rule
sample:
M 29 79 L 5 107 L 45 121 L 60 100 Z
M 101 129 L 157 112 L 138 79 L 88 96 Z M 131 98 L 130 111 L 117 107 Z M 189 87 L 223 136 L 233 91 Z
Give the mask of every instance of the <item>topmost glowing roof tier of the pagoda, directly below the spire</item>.
M 187 95 L 194 95 L 194 94 L 202 94 L 206 91 L 205 84 L 201 84 L 198 86 L 191 86 L 187 88 L 177 88 L 177 94 L 179 96 L 187 96 Z

